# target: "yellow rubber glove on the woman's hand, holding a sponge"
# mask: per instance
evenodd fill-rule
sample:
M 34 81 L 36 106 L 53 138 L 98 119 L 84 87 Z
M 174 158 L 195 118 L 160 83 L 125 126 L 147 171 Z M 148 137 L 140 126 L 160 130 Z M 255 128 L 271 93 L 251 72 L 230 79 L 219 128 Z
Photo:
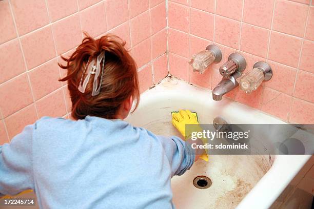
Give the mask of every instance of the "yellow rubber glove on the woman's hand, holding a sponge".
M 185 125 L 199 124 L 199 122 L 198 119 L 191 113 L 191 111 L 180 110 L 179 113 L 174 113 L 172 115 L 172 124 L 176 129 L 178 129 L 178 131 L 182 134 L 182 136 L 184 136 L 184 139 L 186 140 L 188 136 L 185 135 Z M 202 131 L 201 128 L 200 131 Z M 203 151 L 200 158 L 205 161 L 208 161 L 208 156 L 205 150 Z

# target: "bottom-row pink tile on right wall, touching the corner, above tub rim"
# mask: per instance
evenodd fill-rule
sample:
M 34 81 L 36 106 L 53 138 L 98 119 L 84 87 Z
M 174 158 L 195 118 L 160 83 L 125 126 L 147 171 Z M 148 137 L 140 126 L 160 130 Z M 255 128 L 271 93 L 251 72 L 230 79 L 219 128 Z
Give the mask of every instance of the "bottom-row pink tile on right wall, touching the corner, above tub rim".
M 189 81 L 189 60 L 169 53 L 169 73 L 175 77 Z

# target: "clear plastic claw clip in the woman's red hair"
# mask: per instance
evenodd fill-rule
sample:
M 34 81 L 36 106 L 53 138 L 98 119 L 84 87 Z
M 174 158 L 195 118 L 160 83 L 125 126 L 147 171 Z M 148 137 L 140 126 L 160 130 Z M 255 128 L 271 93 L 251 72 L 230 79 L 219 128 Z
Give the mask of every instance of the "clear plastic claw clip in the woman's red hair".
M 103 61 L 102 65 L 102 71 L 101 71 L 101 62 Z M 85 69 L 83 71 L 80 84 L 78 85 L 78 91 L 85 93 L 87 83 L 89 82 L 91 74 L 94 74 L 94 80 L 93 80 L 93 90 L 92 90 L 92 96 L 96 96 L 100 93 L 102 82 L 103 82 L 103 74 L 104 74 L 104 67 L 105 67 L 105 52 L 102 52 L 99 56 L 97 56 L 97 61 L 95 63 L 95 60 L 91 60 L 90 62 L 88 61 Z M 83 76 L 87 70 L 87 75 L 83 81 Z M 101 71 L 101 72 L 100 72 Z M 98 85 L 98 77 L 101 76 L 100 78 L 100 83 Z M 83 82 L 83 83 L 82 83 Z

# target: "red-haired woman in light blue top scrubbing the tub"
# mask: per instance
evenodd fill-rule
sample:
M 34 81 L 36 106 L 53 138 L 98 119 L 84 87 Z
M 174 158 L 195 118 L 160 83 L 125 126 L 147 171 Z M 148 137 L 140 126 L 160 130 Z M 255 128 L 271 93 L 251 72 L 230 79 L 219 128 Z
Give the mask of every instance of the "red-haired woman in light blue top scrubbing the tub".
M 84 38 L 67 64 L 75 120 L 43 117 L 0 146 L 0 195 L 34 190 L 41 208 L 173 208 L 170 178 L 198 155 L 179 137 L 124 121 L 139 102 L 121 39 Z M 178 113 L 176 127 L 195 120 Z

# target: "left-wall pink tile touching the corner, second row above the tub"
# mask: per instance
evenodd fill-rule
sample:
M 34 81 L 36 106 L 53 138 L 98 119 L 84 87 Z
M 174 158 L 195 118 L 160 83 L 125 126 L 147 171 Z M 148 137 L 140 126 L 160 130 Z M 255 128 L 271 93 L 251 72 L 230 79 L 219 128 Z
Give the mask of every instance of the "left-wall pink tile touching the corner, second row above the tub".
M 162 30 L 159 33 L 151 36 L 151 56 L 156 58 L 167 51 L 167 31 Z

